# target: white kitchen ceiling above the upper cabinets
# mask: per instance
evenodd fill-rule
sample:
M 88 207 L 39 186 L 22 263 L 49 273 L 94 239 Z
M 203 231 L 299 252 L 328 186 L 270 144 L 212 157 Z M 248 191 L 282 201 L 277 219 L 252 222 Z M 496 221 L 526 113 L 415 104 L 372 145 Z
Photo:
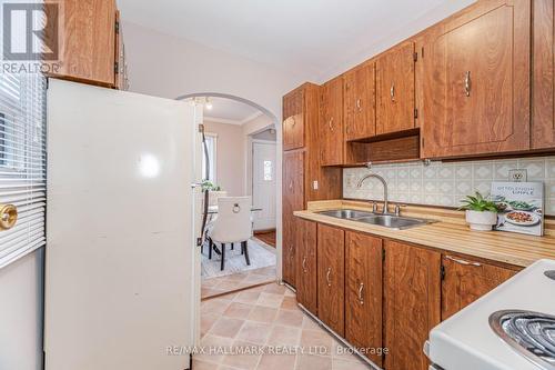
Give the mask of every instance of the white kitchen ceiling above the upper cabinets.
M 118 3 L 125 21 L 319 82 L 474 1 L 118 0 Z

